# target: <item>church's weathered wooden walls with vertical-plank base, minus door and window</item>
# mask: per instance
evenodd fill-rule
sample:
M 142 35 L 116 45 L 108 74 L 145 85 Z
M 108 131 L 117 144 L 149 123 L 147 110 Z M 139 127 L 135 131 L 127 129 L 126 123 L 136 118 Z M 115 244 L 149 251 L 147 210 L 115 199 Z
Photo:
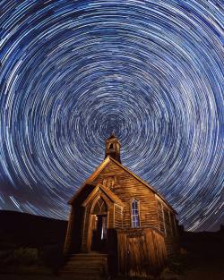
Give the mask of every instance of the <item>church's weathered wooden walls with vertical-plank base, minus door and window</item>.
M 65 253 L 91 250 L 92 210 L 98 199 L 103 199 L 108 211 L 108 267 L 113 267 L 111 271 L 117 267 L 128 276 L 156 273 L 167 257 L 177 252 L 175 211 L 157 191 L 114 159 L 108 157 L 98 168 L 71 199 Z M 138 228 L 132 225 L 133 199 L 138 201 Z M 130 252 L 128 262 L 126 250 Z

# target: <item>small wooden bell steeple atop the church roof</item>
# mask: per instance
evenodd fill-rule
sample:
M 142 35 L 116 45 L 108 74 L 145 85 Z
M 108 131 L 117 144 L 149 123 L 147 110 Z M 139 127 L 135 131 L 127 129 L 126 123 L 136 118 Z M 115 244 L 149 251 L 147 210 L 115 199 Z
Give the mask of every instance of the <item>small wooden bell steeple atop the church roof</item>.
M 120 149 L 121 144 L 116 138 L 115 132 L 112 132 L 110 137 L 106 140 L 105 157 L 113 157 L 114 159 L 116 159 L 116 161 L 121 163 Z

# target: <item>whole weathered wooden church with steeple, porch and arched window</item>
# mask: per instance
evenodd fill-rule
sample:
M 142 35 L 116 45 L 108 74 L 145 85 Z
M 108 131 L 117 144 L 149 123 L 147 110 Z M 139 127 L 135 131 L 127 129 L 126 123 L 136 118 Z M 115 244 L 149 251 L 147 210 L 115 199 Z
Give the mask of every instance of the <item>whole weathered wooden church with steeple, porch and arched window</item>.
M 106 274 L 150 276 L 177 252 L 177 213 L 121 164 L 120 148 L 112 133 L 104 161 L 69 201 L 65 267 L 88 273 L 94 260 Z

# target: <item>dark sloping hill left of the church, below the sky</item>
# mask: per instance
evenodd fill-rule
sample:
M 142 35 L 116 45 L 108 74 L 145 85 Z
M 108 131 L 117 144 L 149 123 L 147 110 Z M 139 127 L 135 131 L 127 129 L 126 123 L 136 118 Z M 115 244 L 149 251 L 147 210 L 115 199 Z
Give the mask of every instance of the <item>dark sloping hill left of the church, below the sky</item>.
M 63 244 L 67 221 L 0 210 L 0 250 Z

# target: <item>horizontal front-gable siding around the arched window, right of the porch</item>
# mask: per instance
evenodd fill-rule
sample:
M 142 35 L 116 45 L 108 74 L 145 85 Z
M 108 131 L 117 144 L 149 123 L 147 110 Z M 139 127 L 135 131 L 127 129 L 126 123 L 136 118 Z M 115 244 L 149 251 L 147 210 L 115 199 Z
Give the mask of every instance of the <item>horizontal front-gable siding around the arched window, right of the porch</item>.
M 123 227 L 132 226 L 131 201 L 135 198 L 140 201 L 141 226 L 159 228 L 157 200 L 153 191 L 114 162 L 110 162 L 93 182 L 102 183 L 108 177 L 115 177 L 111 191 L 124 203 Z

